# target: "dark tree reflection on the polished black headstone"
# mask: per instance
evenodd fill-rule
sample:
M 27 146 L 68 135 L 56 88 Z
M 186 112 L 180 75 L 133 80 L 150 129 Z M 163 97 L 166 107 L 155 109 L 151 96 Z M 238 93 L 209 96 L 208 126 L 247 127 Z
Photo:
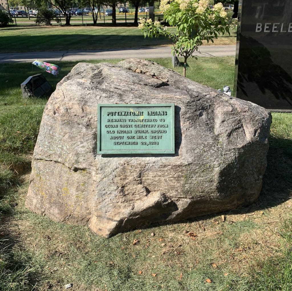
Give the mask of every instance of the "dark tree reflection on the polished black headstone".
M 256 39 L 241 35 L 239 55 L 237 91 L 248 96 L 246 86 L 256 84 L 263 94 L 270 91 L 276 99 L 292 105 L 292 77 L 273 62 L 270 50 Z M 253 102 L 257 103 L 256 99 Z

